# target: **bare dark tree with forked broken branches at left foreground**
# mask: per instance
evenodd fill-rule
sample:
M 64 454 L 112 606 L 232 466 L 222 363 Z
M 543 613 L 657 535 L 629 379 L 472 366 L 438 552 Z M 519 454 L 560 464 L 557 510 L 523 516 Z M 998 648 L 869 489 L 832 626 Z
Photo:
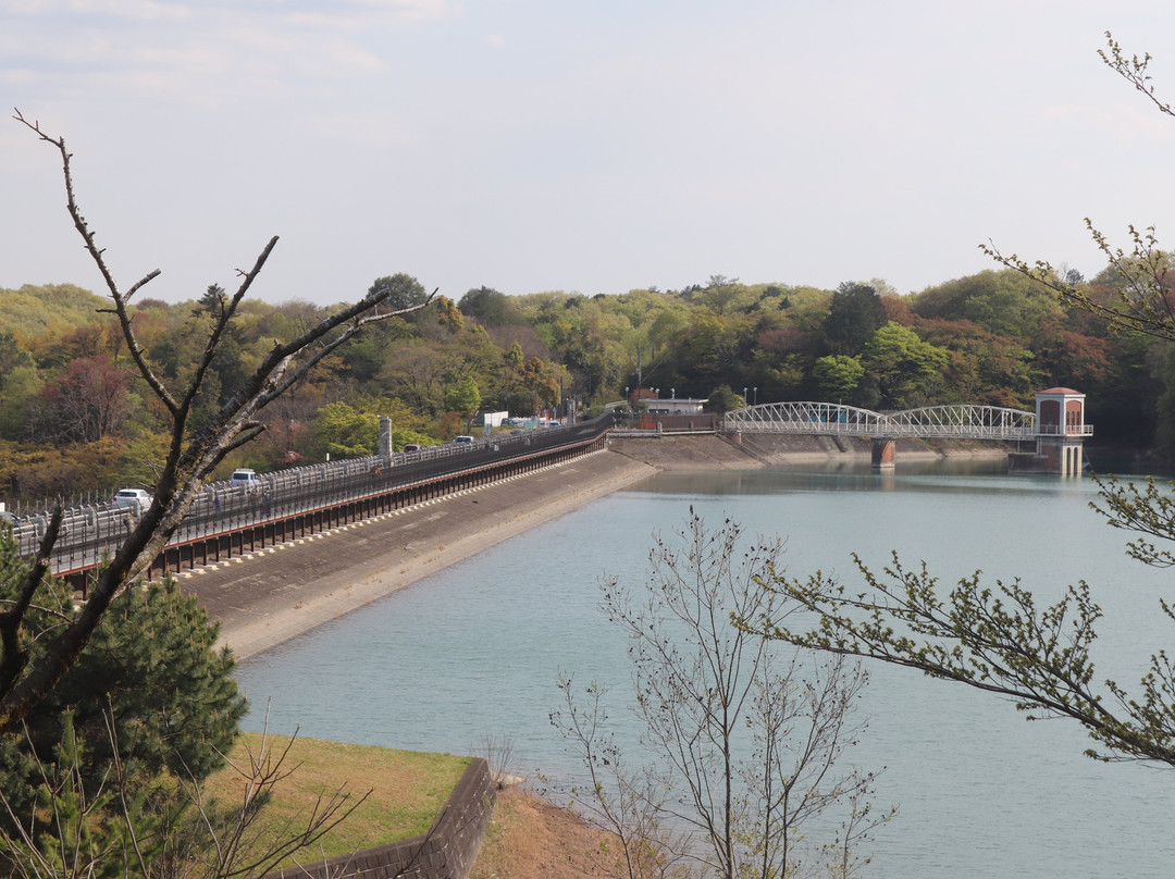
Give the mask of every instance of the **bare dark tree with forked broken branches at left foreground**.
M 240 283 L 226 295 L 213 314 L 203 353 L 192 377 L 181 387 L 169 388 L 157 376 L 140 345 L 134 328 L 132 300 L 160 271 L 153 270 L 123 289 L 115 281 L 82 216 L 74 194 L 72 155 L 62 137 L 47 134 L 36 121 L 20 110 L 14 119 L 47 146 L 58 150 L 62 163 L 66 201 L 74 228 L 106 286 L 106 295 L 122 331 L 122 340 L 139 377 L 159 402 L 169 421 L 170 439 L 166 462 L 154 487 L 154 502 L 145 511 L 114 558 L 101 570 L 89 589 L 86 604 L 35 655 L 22 636 L 25 615 L 48 572 L 48 555 L 56 541 L 61 509 L 51 517 L 35 563 L 24 579 L 18 599 L 0 613 L 0 730 L 14 730 L 29 710 L 45 698 L 61 676 L 76 662 L 112 599 L 140 577 L 163 549 L 200 490 L 201 483 L 233 449 L 255 438 L 263 427 L 258 412 L 294 385 L 323 357 L 344 344 L 365 326 L 384 321 L 403 310 L 381 309 L 390 289 L 369 293 L 355 304 L 340 308 L 329 317 L 289 341 L 274 340 L 269 354 L 206 427 L 194 429 L 192 416 L 201 387 L 209 374 L 217 345 L 233 323 L 237 308 L 264 267 L 277 239 L 270 239 L 251 268 L 240 270 Z M 427 304 L 427 302 L 424 303 Z

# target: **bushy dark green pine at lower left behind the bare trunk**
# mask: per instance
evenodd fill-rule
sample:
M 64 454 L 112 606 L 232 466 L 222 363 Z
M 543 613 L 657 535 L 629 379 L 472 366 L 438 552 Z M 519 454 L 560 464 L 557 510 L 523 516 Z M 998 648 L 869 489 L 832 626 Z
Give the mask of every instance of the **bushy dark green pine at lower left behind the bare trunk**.
M 0 603 L 19 598 L 28 570 L 4 529 Z M 26 617 L 31 660 L 72 606 L 63 583 L 46 582 Z M 32 819 L 38 766 L 54 763 L 63 745 L 82 750 L 75 771 L 95 794 L 115 757 L 143 784 L 164 772 L 199 781 L 219 769 L 247 707 L 233 678 L 231 653 L 216 647 L 219 635 L 196 598 L 181 593 L 170 578 L 112 602 L 103 625 L 21 731 L 0 738 L 0 787 L 15 813 Z

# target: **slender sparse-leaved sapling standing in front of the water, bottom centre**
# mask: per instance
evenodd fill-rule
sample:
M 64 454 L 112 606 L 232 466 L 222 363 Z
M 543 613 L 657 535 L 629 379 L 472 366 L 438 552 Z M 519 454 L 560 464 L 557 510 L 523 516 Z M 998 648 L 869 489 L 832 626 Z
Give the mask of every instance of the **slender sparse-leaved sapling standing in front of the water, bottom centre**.
M 627 874 L 669 863 L 723 879 L 854 874 L 867 863 L 861 843 L 894 814 L 868 805 L 873 773 L 837 765 L 862 729 L 852 707 L 865 672 L 839 659 L 817 665 L 807 653 L 785 663 L 736 624 L 786 616 L 770 588 L 779 541 L 745 542 L 730 519 L 711 531 L 692 509 L 678 538 L 656 539 L 645 589 L 604 584 L 603 609 L 629 639 L 633 711 L 654 774 L 620 769 L 618 746 L 600 732 L 598 686 L 577 704 L 564 679 L 568 706 L 552 716 L 589 767 L 607 824 L 645 857 Z M 801 827 L 837 810 L 839 833 L 822 846 L 799 844 Z M 693 844 L 667 846 L 667 827 L 687 828 Z M 649 859 L 650 850 L 659 857 Z

